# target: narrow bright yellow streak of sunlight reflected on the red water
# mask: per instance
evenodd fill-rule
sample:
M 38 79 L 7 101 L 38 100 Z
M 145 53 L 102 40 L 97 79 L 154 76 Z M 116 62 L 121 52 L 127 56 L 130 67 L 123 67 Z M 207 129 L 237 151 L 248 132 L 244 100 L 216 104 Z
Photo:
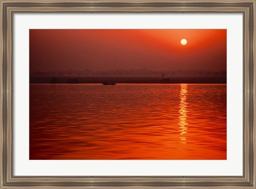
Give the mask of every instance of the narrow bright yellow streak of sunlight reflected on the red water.
M 187 143 L 187 84 L 180 85 L 180 116 L 179 116 L 179 128 L 180 128 L 180 143 Z

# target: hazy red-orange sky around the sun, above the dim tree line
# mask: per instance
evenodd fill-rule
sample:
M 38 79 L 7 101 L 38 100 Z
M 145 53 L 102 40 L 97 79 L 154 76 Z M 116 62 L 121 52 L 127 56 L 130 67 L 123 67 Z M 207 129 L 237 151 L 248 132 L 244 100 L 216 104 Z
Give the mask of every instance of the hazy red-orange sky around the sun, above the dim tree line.
M 187 45 L 180 44 L 187 39 Z M 29 30 L 30 71 L 226 71 L 226 29 Z

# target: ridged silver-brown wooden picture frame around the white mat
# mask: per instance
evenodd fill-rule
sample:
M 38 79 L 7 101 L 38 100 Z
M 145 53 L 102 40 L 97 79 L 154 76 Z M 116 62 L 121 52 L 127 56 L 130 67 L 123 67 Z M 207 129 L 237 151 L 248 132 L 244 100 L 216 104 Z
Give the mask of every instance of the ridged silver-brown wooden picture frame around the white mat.
M 256 0 L 0 0 L 0 188 L 256 188 Z M 13 14 L 242 13 L 243 176 L 14 176 Z

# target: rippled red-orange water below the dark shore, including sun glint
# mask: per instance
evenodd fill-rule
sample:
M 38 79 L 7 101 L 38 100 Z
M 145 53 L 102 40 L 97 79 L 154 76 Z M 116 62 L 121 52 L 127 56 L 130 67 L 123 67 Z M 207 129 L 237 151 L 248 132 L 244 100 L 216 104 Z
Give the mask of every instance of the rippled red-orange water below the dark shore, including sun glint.
M 226 84 L 30 84 L 30 159 L 226 159 Z

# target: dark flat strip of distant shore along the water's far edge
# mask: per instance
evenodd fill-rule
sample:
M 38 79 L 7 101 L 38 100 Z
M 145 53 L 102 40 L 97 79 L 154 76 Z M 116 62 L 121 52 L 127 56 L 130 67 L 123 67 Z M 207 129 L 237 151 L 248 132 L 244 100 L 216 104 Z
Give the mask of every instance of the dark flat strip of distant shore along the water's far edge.
M 211 83 L 226 84 L 226 77 L 51 77 L 31 76 L 29 83 Z

